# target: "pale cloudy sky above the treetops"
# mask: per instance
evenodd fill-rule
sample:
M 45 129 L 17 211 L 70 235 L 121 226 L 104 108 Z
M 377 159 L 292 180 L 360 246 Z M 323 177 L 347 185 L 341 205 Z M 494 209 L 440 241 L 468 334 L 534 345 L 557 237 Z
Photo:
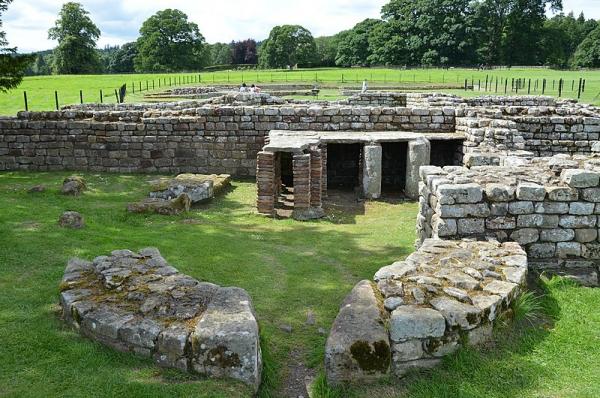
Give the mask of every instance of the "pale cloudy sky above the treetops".
M 63 0 L 14 0 L 4 15 L 11 46 L 19 51 L 47 50 Z M 144 20 L 158 10 L 178 8 L 200 26 L 209 43 L 265 39 L 273 26 L 299 24 L 313 35 L 332 35 L 365 18 L 378 18 L 388 0 L 79 0 L 102 31 L 99 47 L 123 44 L 138 36 Z M 584 11 L 600 19 L 600 1 L 563 0 L 565 13 Z

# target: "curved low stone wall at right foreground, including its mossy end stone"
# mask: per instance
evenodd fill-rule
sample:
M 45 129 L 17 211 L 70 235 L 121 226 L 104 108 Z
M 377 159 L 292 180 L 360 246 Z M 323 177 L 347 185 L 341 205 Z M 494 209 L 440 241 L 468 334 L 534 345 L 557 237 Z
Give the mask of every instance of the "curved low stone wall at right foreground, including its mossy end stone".
M 490 340 L 526 277 L 517 243 L 424 241 L 346 297 L 325 348 L 328 383 L 402 377 Z

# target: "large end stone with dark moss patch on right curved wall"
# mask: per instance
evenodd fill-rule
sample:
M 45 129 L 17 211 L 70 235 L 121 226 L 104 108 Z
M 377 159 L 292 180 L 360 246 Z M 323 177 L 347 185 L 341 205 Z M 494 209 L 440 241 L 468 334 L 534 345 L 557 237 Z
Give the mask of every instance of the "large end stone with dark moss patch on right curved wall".
M 344 300 L 325 346 L 325 371 L 331 385 L 379 379 L 389 371 L 387 312 L 372 282 L 358 283 Z

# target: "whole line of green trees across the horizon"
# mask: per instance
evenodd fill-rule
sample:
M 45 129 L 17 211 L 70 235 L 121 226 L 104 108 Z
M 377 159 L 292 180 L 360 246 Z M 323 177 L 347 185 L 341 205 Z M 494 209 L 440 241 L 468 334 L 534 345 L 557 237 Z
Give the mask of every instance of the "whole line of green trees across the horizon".
M 0 0 L 0 15 L 11 1 Z M 547 8 L 558 14 L 548 18 Z M 562 0 L 390 0 L 381 19 L 366 19 L 334 36 L 315 38 L 302 26 L 282 25 L 262 42 L 208 44 L 185 13 L 166 9 L 142 24 L 136 41 L 97 50 L 100 29 L 81 4 L 69 2 L 48 32 L 58 46 L 28 58 L 26 73 L 248 66 L 600 67 L 600 24 L 583 13 L 575 17 L 561 10 Z M 6 47 L 2 34 L 0 48 Z M 10 56 L 0 60 L 25 60 L 15 49 L 5 51 Z

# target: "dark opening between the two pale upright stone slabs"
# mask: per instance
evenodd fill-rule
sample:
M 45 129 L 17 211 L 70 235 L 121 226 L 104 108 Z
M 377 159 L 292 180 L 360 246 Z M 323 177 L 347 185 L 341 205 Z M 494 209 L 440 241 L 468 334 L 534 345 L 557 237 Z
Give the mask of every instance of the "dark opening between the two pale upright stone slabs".
M 384 142 L 381 144 L 381 192 L 400 193 L 406 186 L 407 142 Z

